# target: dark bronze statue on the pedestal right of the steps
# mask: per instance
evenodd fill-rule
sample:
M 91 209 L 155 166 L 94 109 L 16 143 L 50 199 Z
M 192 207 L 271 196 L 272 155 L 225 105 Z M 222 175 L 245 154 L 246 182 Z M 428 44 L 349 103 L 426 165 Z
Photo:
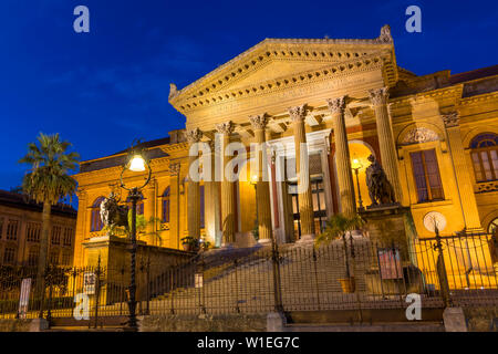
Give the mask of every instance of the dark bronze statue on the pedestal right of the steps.
M 366 186 L 369 187 L 370 199 L 372 199 L 371 207 L 395 204 L 393 186 L 381 164 L 373 155 L 369 156 L 369 162 L 371 162 L 371 165 L 366 168 Z

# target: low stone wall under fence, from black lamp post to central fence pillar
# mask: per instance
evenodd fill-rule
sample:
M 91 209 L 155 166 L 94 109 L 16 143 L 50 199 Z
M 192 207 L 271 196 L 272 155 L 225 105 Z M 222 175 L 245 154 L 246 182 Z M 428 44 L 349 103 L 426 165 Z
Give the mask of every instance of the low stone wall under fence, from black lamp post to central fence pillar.
M 153 315 L 139 319 L 141 332 L 266 332 L 267 314 Z

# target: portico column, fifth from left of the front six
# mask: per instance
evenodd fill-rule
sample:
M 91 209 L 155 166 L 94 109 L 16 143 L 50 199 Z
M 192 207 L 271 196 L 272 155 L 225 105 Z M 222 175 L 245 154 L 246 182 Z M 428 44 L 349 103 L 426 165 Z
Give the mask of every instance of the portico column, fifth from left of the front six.
M 335 140 L 335 166 L 338 169 L 339 195 L 341 198 L 342 212 L 354 215 L 356 202 L 354 198 L 353 175 L 351 174 L 350 148 L 347 146 L 347 134 L 345 129 L 344 108 L 346 96 L 326 100 L 332 113 Z

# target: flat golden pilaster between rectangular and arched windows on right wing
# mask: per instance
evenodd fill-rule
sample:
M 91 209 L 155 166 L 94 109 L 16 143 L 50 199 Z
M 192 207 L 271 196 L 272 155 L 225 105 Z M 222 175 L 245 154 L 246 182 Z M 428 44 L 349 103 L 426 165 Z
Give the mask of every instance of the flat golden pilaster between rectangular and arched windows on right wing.
M 474 184 L 469 175 L 469 167 L 465 159 L 464 144 L 461 143 L 460 117 L 457 112 L 453 112 L 443 115 L 443 122 L 446 127 L 456 185 L 461 201 L 465 227 L 466 229 L 481 231 L 476 195 L 474 194 Z

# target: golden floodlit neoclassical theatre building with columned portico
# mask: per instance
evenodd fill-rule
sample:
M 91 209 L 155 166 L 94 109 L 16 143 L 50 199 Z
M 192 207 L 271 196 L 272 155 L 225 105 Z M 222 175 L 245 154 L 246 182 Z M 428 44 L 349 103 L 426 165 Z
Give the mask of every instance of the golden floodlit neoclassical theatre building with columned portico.
M 139 239 L 179 249 L 185 236 L 200 236 L 247 247 L 256 222 L 260 242 L 311 239 L 328 217 L 361 207 L 360 197 L 371 205 L 370 155 L 396 200 L 409 207 L 419 238 L 434 236 L 424 225 L 429 212 L 443 235 L 491 232 L 498 225 L 497 87 L 498 65 L 423 76 L 400 66 L 388 25 L 366 40 L 267 39 L 181 90 L 172 84 L 169 103 L 186 117 L 185 127 L 143 144 L 153 179 L 138 212 L 157 222 Z M 237 167 L 236 181 L 189 179 L 197 160 L 190 145 L 212 147 L 219 136 L 221 146 L 240 142 L 248 154 L 251 143 L 264 142 L 261 168 L 269 180 L 250 164 Z M 211 162 L 217 153 L 203 152 Z M 75 176 L 76 266 L 86 262 L 89 240 L 103 236 L 100 201 L 116 190 L 125 154 L 83 162 Z M 302 159 L 309 184 L 297 192 Z M 276 178 L 282 174 L 284 180 Z M 131 175 L 126 184 L 143 178 Z

